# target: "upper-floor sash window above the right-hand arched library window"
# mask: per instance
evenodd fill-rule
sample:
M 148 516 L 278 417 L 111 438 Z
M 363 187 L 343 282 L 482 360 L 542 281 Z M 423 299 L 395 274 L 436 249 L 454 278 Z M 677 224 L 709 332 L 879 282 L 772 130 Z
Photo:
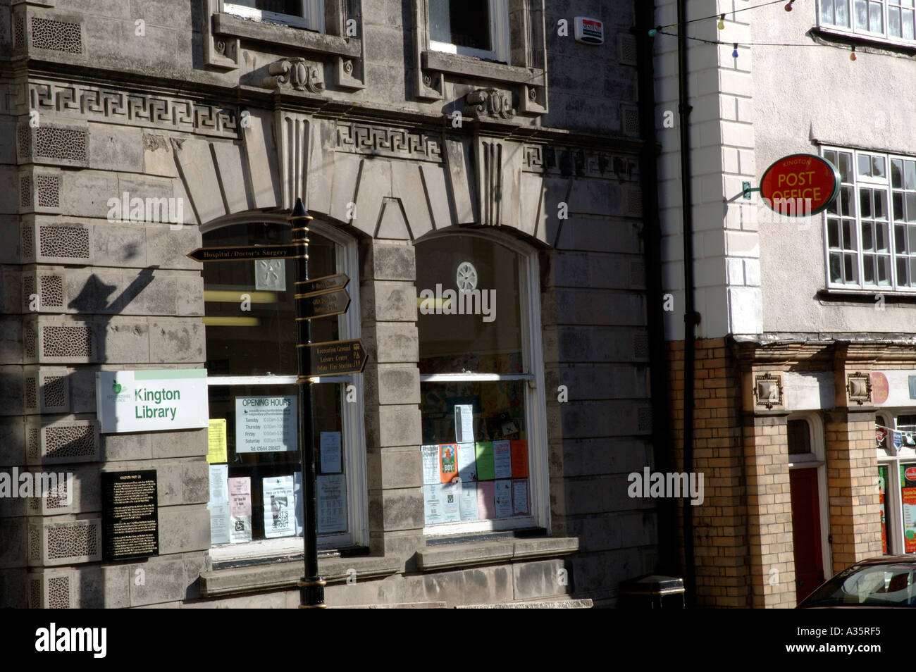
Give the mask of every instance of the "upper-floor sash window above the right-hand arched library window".
M 509 62 L 507 0 L 429 0 L 430 49 Z

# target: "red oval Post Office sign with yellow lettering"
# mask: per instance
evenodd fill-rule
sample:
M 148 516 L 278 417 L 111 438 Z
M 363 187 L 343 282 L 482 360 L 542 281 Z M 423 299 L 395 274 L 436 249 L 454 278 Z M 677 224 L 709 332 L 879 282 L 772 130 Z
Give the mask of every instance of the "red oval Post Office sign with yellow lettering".
M 807 217 L 830 207 L 840 192 L 840 173 L 830 161 L 813 154 L 782 157 L 760 180 L 767 207 L 787 217 Z

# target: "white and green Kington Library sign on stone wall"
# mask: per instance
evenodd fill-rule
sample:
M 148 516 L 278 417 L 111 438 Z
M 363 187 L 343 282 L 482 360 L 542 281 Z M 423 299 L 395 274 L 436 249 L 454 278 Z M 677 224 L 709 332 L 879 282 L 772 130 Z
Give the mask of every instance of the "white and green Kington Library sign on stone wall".
M 101 371 L 95 400 L 103 434 L 208 427 L 206 369 Z

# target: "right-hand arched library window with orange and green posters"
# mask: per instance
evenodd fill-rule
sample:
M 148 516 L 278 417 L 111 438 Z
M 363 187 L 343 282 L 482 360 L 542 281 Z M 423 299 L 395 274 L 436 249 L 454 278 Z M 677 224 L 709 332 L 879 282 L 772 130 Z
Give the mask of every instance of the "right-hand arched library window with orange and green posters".
M 417 288 L 427 534 L 547 526 L 537 256 L 432 237 Z

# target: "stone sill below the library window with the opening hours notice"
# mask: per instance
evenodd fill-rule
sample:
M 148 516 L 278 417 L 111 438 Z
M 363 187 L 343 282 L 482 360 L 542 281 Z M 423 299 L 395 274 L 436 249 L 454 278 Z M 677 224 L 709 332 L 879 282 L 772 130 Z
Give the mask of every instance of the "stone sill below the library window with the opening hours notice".
M 343 583 L 355 570 L 358 580 L 396 574 L 402 566 L 398 558 L 319 558 L 318 571 L 328 583 Z M 255 567 L 214 569 L 201 573 L 201 597 L 223 597 L 258 591 L 294 589 L 302 578 L 302 561 L 275 562 Z

